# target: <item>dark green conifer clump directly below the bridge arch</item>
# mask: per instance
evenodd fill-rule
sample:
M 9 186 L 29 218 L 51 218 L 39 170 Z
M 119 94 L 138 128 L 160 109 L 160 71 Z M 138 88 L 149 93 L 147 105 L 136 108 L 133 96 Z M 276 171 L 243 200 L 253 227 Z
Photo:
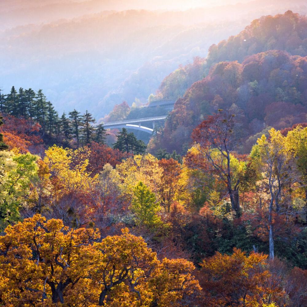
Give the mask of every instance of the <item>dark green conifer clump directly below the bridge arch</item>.
M 113 148 L 122 152 L 142 154 L 145 153 L 146 145 L 143 141 L 138 140 L 133 132 L 128 133 L 126 128 L 122 128 L 122 131 L 117 136 L 117 141 L 113 144 Z

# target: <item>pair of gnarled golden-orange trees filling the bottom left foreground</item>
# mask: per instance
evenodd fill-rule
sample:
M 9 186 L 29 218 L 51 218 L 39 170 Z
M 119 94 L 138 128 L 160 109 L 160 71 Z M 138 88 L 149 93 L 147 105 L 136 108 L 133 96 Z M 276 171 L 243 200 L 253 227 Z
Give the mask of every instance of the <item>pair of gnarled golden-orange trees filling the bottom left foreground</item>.
M 94 229 L 69 229 L 41 215 L 0 237 L 4 306 L 180 306 L 201 290 L 185 259 L 163 259 L 141 237 L 99 240 Z

